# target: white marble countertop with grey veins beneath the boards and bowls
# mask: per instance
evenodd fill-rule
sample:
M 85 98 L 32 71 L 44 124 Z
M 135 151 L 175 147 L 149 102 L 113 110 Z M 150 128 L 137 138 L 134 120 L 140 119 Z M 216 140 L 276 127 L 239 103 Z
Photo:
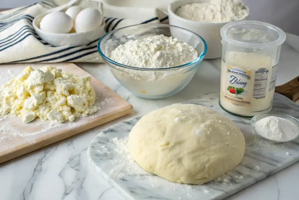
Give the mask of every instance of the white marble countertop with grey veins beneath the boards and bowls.
M 287 34 L 287 43 L 299 51 L 299 37 Z M 288 66 L 299 59 L 283 60 L 288 74 L 299 75 Z M 287 56 L 285 57 L 287 58 Z M 134 107 L 134 113 L 95 127 L 77 136 L 57 142 L 0 165 L 1 200 L 124 200 L 124 198 L 94 172 L 87 162 L 86 150 L 91 140 L 103 129 L 134 116 L 186 100 L 207 92 L 218 92 L 220 59 L 203 61 L 191 82 L 178 94 L 162 100 L 144 100 L 131 95 L 109 72 L 106 64 L 77 64 L 109 86 Z M 1 67 L 1 66 L 0 66 Z M 296 66 L 297 68 L 297 66 Z M 294 75 L 294 73 L 297 73 Z M 280 82 L 286 77 L 278 76 Z M 207 91 L 207 87 L 209 90 Z M 298 199 L 299 162 L 227 198 L 237 199 Z

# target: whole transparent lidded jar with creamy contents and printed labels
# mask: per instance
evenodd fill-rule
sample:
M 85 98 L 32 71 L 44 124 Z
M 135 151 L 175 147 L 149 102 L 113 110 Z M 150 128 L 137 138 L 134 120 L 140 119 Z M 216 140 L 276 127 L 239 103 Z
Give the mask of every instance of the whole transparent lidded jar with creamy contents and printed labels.
M 219 105 L 242 117 L 269 112 L 285 32 L 265 22 L 237 21 L 224 25 L 220 34 Z

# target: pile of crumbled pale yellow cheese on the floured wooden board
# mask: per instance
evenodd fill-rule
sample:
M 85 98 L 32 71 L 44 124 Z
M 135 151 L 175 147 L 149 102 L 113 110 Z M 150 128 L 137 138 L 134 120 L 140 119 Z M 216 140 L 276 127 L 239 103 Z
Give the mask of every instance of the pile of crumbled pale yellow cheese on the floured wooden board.
M 13 114 L 24 123 L 36 117 L 51 122 L 74 121 L 97 111 L 90 77 L 79 77 L 44 66 L 23 73 L 0 87 L 0 115 Z

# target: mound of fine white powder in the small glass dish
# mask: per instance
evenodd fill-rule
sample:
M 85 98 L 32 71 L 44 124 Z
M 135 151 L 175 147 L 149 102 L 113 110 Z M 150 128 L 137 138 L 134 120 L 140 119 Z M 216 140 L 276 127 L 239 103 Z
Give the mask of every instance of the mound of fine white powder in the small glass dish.
M 255 123 L 254 128 L 261 136 L 276 141 L 293 139 L 299 133 L 298 126 L 291 121 L 275 116 L 260 119 Z

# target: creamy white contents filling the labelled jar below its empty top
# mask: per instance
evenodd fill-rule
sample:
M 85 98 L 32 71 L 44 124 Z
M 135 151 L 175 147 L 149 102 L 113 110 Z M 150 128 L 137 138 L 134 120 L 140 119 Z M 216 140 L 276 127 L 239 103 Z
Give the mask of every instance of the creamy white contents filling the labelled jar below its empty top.
M 237 115 L 269 112 L 274 97 L 277 63 L 252 52 L 227 52 L 221 62 L 219 104 Z

